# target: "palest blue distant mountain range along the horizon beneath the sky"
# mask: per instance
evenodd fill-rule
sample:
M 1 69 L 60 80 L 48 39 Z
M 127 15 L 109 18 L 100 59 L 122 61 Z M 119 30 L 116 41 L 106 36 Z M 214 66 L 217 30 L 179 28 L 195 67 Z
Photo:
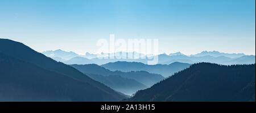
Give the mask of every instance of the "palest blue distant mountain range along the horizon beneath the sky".
M 126 57 L 121 58 L 123 56 L 118 53 L 112 53 L 112 54 L 105 54 L 115 56 L 113 59 L 102 59 L 101 57 L 98 58 L 97 56 L 100 56 L 99 54 L 90 54 L 86 53 L 85 55 L 78 55 L 73 52 L 67 52 L 63 50 L 55 50 L 55 51 L 44 51 L 43 54 L 46 56 L 51 57 L 52 59 L 55 59 L 59 62 L 63 62 L 66 64 L 106 64 L 110 62 L 141 62 L 144 64 L 147 64 L 148 60 L 151 60 L 152 56 L 144 55 L 140 53 L 123 53 L 124 55 L 133 54 L 139 56 L 139 58 L 135 59 L 129 59 Z M 103 54 L 103 53 L 102 53 Z M 104 56 L 104 55 L 102 55 Z M 121 59 L 120 59 L 121 58 Z M 243 60 L 241 60 L 243 59 Z M 253 64 L 255 63 L 255 55 L 245 55 L 242 53 L 239 54 L 229 54 L 229 53 L 221 53 L 218 51 L 202 51 L 201 53 L 194 54 L 194 55 L 184 55 L 180 52 L 172 53 L 170 55 L 167 54 L 159 54 L 158 55 L 158 64 L 171 64 L 174 62 L 181 62 L 181 63 L 199 63 L 199 62 L 209 62 L 209 63 L 217 63 L 217 64 Z

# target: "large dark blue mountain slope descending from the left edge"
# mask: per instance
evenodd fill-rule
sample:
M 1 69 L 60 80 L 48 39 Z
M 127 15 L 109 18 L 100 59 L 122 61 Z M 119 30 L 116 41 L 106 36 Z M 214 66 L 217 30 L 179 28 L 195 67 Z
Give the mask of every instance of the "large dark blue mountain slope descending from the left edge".
M 119 101 L 126 95 L 19 42 L 0 39 L 0 101 Z

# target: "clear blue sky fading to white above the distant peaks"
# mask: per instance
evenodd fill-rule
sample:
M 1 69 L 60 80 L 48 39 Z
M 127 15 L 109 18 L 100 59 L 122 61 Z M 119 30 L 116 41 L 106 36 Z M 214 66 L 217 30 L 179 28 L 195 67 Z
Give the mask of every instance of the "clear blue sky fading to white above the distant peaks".
M 160 53 L 255 55 L 255 0 L 0 0 L 0 38 L 95 53 L 97 40 L 158 38 Z

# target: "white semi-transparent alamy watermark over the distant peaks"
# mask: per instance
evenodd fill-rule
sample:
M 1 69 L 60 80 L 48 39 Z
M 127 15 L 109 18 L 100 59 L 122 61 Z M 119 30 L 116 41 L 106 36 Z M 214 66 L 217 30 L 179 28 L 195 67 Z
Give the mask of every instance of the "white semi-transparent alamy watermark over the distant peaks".
M 97 53 L 101 53 L 98 54 L 101 59 L 146 59 L 147 64 L 158 63 L 158 39 L 115 39 L 115 35 L 110 34 L 109 40 L 102 38 L 97 46 L 100 46 Z

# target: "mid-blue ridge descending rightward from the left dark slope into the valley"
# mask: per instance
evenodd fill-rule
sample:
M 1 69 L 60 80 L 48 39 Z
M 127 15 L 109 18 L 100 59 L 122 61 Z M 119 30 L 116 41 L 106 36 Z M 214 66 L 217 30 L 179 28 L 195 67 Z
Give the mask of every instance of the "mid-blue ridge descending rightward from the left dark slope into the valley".
M 78 69 L 83 73 L 91 73 L 94 75 L 102 76 L 112 76 L 118 75 L 126 79 L 132 79 L 140 82 L 146 86 L 152 86 L 156 82 L 159 82 L 164 79 L 163 76 L 155 73 L 149 73 L 146 71 L 130 71 L 130 72 L 121 72 L 121 71 L 110 71 L 104 67 L 98 66 L 97 64 L 85 64 L 85 65 L 71 65 L 72 67 Z

